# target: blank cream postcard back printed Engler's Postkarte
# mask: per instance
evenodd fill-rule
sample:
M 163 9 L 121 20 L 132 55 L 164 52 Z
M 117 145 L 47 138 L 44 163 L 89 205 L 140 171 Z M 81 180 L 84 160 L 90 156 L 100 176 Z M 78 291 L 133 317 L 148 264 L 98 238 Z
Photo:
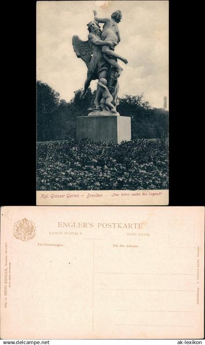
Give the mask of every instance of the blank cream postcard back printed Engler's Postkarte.
M 203 338 L 204 208 L 3 207 L 0 304 L 3 339 Z

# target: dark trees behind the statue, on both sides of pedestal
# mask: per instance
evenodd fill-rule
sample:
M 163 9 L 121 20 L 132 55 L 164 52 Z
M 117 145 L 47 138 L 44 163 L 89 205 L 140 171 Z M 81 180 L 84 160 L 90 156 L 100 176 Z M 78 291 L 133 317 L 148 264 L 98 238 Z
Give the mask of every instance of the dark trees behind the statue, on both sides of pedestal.
M 37 141 L 67 140 L 76 138 L 76 117 L 86 116 L 92 106 L 95 92 L 88 89 L 80 100 L 81 89 L 74 92 L 70 102 L 60 99 L 51 86 L 37 81 Z M 163 108 L 151 108 L 143 94 L 124 95 L 119 99 L 117 111 L 131 117 L 132 139 L 166 138 L 169 113 Z

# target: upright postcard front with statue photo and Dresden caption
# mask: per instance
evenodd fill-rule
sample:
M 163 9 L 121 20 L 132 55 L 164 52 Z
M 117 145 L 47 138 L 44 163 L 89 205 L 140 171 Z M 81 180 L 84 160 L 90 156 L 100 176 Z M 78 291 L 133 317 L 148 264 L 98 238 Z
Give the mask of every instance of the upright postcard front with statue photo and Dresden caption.
M 168 1 L 37 1 L 37 205 L 168 205 Z

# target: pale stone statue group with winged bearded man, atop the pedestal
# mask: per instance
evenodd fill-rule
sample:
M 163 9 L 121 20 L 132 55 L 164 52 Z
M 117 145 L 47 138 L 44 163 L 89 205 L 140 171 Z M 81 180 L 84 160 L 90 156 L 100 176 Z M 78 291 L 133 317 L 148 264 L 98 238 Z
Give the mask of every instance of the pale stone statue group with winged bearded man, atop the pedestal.
M 89 31 L 88 41 L 80 40 L 77 35 L 73 36 L 72 39 L 73 48 L 77 57 L 81 58 L 88 68 L 81 98 L 85 96 L 91 80 L 98 79 L 100 81 L 101 79 L 105 79 L 106 87 L 112 97 L 112 106 L 108 106 L 106 103 L 103 104 L 103 101 L 101 102 L 101 100 L 104 99 L 102 90 L 105 83 L 103 83 L 103 86 L 97 84 L 94 107 L 91 108 L 93 112 L 89 113 L 89 115 L 119 115 L 115 107 L 119 104 L 118 77 L 123 68 L 118 65 L 117 58 L 122 60 L 125 64 L 127 60 L 116 54 L 114 52 L 114 47 L 120 42 L 120 32 L 117 23 L 120 22 L 122 13 L 120 11 L 114 12 L 111 19 L 98 18 L 96 11 L 94 11 L 94 15 L 95 20 L 87 24 L 87 29 Z M 99 22 L 104 22 L 102 31 Z

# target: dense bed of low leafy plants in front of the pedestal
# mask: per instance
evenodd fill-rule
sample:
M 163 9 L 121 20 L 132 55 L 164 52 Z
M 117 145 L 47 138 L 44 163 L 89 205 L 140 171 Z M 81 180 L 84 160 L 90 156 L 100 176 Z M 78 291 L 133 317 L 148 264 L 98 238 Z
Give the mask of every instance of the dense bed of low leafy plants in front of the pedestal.
M 168 189 L 168 146 L 85 139 L 39 143 L 37 190 Z

